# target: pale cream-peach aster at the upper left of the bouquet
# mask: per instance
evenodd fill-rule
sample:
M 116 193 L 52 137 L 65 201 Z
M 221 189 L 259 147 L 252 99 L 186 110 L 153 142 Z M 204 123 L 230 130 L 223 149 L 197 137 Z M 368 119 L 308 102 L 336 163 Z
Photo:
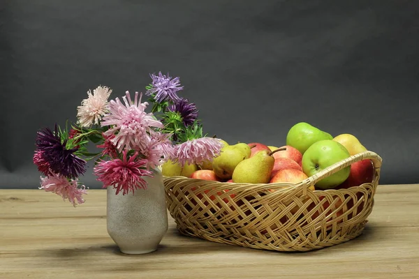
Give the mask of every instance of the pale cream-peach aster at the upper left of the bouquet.
M 93 93 L 87 91 L 88 98 L 82 100 L 78 106 L 78 120 L 80 126 L 89 128 L 98 124 L 102 117 L 108 112 L 108 98 L 112 90 L 106 86 L 98 86 Z

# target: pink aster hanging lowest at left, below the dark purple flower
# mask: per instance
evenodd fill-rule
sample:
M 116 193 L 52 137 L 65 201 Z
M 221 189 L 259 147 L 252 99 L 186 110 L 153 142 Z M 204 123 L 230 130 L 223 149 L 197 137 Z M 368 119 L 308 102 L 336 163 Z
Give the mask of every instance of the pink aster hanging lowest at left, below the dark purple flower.
M 82 195 L 87 194 L 86 187 L 84 185 L 78 186 L 78 179 L 68 179 L 61 174 L 54 174 L 50 172 L 48 176 L 41 176 L 41 187 L 40 189 L 45 192 L 52 192 L 63 197 L 64 200 L 68 199 L 69 202 L 75 206 L 76 204 L 84 203 Z

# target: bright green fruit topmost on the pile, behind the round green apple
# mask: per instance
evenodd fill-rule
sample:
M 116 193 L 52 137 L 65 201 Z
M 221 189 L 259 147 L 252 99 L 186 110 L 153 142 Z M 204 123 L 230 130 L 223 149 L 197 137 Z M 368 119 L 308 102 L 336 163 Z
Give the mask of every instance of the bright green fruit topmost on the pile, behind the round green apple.
M 321 140 L 332 140 L 332 135 L 320 130 L 306 122 L 295 124 L 286 135 L 286 145 L 291 145 L 302 154 L 314 144 Z

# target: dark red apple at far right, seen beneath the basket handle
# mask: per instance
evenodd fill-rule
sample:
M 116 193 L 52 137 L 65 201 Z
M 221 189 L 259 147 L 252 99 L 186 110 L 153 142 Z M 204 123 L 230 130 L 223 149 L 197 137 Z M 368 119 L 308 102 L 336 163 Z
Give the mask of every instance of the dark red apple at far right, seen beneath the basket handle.
M 374 165 L 372 165 L 371 160 L 360 160 L 351 165 L 351 172 L 349 172 L 348 179 L 337 188 L 360 186 L 364 183 L 372 182 L 372 179 L 374 179 Z

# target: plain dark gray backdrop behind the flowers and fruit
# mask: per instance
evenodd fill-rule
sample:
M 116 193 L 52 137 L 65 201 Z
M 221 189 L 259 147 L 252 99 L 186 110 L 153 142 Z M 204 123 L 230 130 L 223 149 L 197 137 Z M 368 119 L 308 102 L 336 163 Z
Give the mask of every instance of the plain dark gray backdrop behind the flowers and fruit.
M 381 184 L 418 183 L 419 1 L 0 1 L 0 188 L 36 188 L 36 130 L 88 89 L 180 76 L 205 132 L 281 146 L 293 124 L 352 133 Z M 100 188 L 91 167 L 82 181 Z

